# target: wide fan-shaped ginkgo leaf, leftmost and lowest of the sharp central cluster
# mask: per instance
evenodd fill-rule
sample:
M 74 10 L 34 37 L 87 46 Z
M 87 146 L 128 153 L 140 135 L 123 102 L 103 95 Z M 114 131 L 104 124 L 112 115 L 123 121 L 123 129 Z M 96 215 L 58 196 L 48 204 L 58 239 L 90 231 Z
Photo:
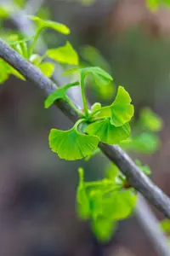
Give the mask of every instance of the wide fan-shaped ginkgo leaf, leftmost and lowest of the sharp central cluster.
M 79 133 L 75 127 L 68 131 L 52 129 L 48 139 L 52 151 L 65 160 L 82 159 L 91 154 L 99 143 L 99 137 Z

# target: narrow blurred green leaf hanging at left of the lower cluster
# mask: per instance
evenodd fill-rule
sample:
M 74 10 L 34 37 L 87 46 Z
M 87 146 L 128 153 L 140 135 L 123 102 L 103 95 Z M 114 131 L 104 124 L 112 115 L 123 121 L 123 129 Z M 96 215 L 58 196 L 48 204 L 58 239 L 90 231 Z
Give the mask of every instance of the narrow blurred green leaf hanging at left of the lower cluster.
M 80 218 L 90 218 L 90 206 L 88 201 L 88 194 L 84 184 L 84 173 L 83 169 L 79 168 L 79 184 L 77 188 L 77 213 Z

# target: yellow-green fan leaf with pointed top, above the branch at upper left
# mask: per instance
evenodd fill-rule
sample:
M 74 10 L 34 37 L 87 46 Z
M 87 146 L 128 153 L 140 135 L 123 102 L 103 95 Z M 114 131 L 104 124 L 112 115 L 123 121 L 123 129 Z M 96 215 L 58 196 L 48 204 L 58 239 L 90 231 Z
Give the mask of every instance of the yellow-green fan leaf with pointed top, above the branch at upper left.
M 47 55 L 54 61 L 59 61 L 61 63 L 71 65 L 78 65 L 77 51 L 73 49 L 69 42 L 66 42 L 64 46 L 58 47 L 56 49 L 48 49 Z

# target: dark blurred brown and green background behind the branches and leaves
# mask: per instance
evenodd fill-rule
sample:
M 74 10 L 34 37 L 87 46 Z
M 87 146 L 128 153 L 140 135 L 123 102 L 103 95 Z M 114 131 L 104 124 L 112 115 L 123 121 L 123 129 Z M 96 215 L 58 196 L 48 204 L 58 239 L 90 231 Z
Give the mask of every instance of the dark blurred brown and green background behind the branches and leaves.
M 111 102 L 116 87 L 122 85 L 132 96 L 135 120 L 145 107 L 160 115 L 164 125 L 156 134 L 156 150 L 129 154 L 148 164 L 153 181 L 170 195 L 169 10 L 151 12 L 144 0 L 1 0 L 0 7 L 3 3 L 16 12 L 10 17 L 1 12 L 2 37 L 20 25 L 29 32 L 20 20 L 26 9 L 29 15 L 71 28 L 67 38 L 44 32 L 43 44 L 57 47 L 68 39 L 82 63 L 103 66 L 111 73 L 114 84 L 109 93 L 88 88 L 91 103 Z M 104 243 L 97 241 L 88 223 L 77 218 L 77 168 L 84 167 L 86 179 L 95 180 L 105 176 L 108 161 L 99 155 L 88 162 L 66 162 L 51 152 L 48 132 L 53 127 L 66 130 L 71 122 L 54 107 L 44 109 L 45 97 L 34 84 L 14 77 L 0 86 L 0 254 L 158 255 L 135 216 L 120 222 L 111 241 Z M 156 216 L 162 218 L 160 212 Z

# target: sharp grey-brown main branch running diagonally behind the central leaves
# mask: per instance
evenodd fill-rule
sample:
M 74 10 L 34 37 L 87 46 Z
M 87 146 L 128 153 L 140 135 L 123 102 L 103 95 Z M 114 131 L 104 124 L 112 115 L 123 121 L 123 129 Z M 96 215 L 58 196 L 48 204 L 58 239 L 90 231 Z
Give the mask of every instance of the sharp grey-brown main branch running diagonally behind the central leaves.
M 17 69 L 29 81 L 36 84 L 39 88 L 51 93 L 57 89 L 57 86 L 42 72 L 26 61 L 14 49 L 0 39 L 0 57 L 7 61 L 11 66 Z M 65 115 L 75 122 L 78 119 L 77 113 L 65 100 L 59 100 L 55 103 Z M 150 201 L 167 218 L 170 218 L 170 200 L 161 189 L 150 181 L 143 172 L 139 170 L 133 160 L 118 146 L 109 146 L 99 143 L 102 152 L 119 167 L 120 171 L 127 177 L 128 182 L 137 189 L 144 197 Z

